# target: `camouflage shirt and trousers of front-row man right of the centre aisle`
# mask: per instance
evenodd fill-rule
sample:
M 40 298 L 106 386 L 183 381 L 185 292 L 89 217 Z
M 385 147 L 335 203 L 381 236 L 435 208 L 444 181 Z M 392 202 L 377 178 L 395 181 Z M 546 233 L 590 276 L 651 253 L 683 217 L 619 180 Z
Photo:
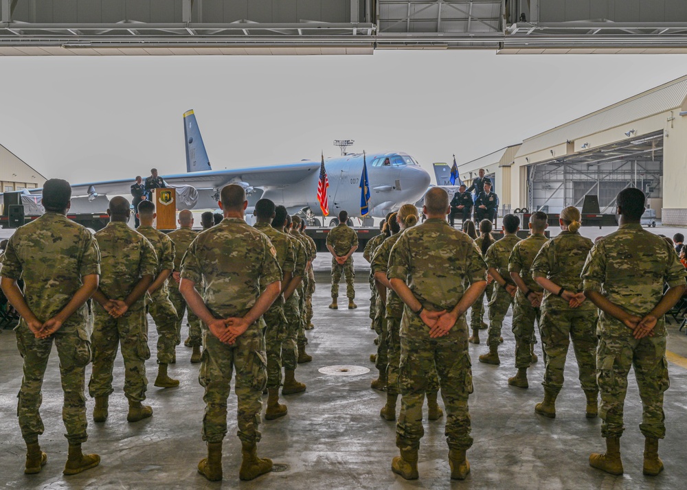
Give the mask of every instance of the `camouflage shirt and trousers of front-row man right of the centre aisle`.
M 475 242 L 438 218 L 401 233 L 388 268 L 389 279 L 405 281 L 423 307 L 433 311 L 449 311 L 458 304 L 464 293 L 464 277 L 473 283 L 484 281 L 486 276 L 486 264 Z M 468 412 L 473 382 L 465 316 L 458 318 L 446 336 L 430 338 L 429 327 L 406 305 L 398 376 L 401 415 L 396 425 L 396 445 L 402 451 L 417 450 L 425 433 L 422 407 L 432 365 L 439 375 L 447 412 L 449 448 L 467 450 L 473 443 Z

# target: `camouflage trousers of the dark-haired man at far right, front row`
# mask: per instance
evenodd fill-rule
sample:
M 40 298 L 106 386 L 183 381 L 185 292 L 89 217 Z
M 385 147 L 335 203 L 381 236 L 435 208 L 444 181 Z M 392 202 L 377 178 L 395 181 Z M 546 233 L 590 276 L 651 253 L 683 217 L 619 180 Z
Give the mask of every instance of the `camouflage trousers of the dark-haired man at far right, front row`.
M 661 327 L 660 323 L 663 322 L 664 319 L 661 318 L 654 330 Z M 645 437 L 663 439 L 666 436 L 663 393 L 670 386 L 666 336 L 637 340 L 632 337 L 632 331 L 619 322 L 612 329 L 602 328 L 602 332 L 596 349 L 602 436 L 622 436 L 622 408 L 627 393 L 627 375 L 630 367 L 633 367 L 642 399 L 640 430 Z

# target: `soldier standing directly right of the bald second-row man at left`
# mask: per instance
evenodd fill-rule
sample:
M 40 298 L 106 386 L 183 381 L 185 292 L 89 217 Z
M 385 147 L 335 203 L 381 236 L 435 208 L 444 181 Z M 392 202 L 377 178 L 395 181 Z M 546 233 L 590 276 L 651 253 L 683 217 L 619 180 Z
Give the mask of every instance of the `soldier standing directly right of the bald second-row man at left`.
M 155 220 L 155 205 L 150 201 L 142 201 L 138 205 L 138 219 L 141 226 L 137 228 L 148 239 L 157 255 L 157 270 L 155 280 L 148 287 L 146 304 L 148 312 L 155 320 L 157 328 L 157 377 L 155 386 L 158 388 L 174 388 L 179 386 L 179 380 L 172 380 L 167 374 L 168 364 L 177 362 L 177 310 L 174 309 L 169 298 L 167 279 L 174 270 L 174 242 L 172 239 L 153 228 Z M 147 320 L 147 318 L 146 318 Z

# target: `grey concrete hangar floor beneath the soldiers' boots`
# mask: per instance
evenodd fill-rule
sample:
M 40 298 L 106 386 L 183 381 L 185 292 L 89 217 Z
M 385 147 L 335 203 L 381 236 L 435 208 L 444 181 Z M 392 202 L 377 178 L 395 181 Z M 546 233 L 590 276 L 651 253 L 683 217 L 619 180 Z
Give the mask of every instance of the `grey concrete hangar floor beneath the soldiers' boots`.
M 357 310 L 328 310 L 329 259 L 320 254 L 316 261 L 316 328 L 308 332 L 308 353 L 313 362 L 301 364 L 297 379 L 305 382 L 305 393 L 285 397 L 289 415 L 260 425 L 259 454 L 287 466 L 286 471 L 262 476 L 253 482 L 238 480 L 240 443 L 236 434 L 236 397 L 229 397 L 229 434 L 224 446 L 224 480 L 211 483 L 196 473 L 205 455 L 200 430 L 203 390 L 197 382 L 198 364 L 190 364 L 190 349 L 177 349 L 177 364 L 170 374 L 181 380 L 179 388 L 155 388 L 155 339 L 150 327 L 153 356 L 148 367 L 148 400 L 155 415 L 139 423 L 126 422 L 126 399 L 122 394 L 123 364 L 115 363 L 115 393 L 110 399 L 110 416 L 104 424 L 89 423 L 85 450 L 100 454 L 98 468 L 65 478 L 67 441 L 61 420 L 62 393 L 58 362 L 53 355 L 43 386 L 41 415 L 45 434 L 41 438 L 48 464 L 41 474 L 25 476 L 25 447 L 16 423 L 16 392 L 21 383 L 21 358 L 14 334 L 0 334 L 0 485 L 7 488 L 49 489 L 189 489 L 260 487 L 286 489 L 380 489 L 380 488 L 479 488 L 479 489 L 653 489 L 684 488 L 687 466 L 683 464 L 683 440 L 687 422 L 682 421 L 686 401 L 687 371 L 676 364 L 671 369 L 671 389 L 666 393 L 668 436 L 660 454 L 666 470 L 655 478 L 642 475 L 644 439 L 639 432 L 641 404 L 633 379 L 625 404 L 627 430 L 621 440 L 625 474 L 613 477 L 592 469 L 589 452 L 602 450 L 599 419 L 584 416 L 585 397 L 578 386 L 572 354 L 566 366 L 567 383 L 557 403 L 557 417 L 534 414 L 541 401 L 543 363 L 530 370 L 530 388 L 507 386 L 513 373 L 515 340 L 510 332 L 511 315 L 504 323 L 501 366 L 477 362 L 486 345 L 470 345 L 475 393 L 470 397 L 473 437 L 469 451 L 472 473 L 464 482 L 449 479 L 444 419 L 425 420 L 425 437 L 420 448 L 420 480 L 406 482 L 391 471 L 398 454 L 394 445 L 394 423 L 379 417 L 385 394 L 370 388 L 377 373 L 369 361 L 375 349 L 375 334 L 368 318 L 367 269 L 360 253 L 356 261 Z M 343 285 L 343 283 L 342 283 Z M 185 334 L 185 329 L 183 331 Z M 486 337 L 486 331 L 484 332 Z M 668 349 L 687 354 L 687 338 L 671 326 Z M 537 345 L 541 358 L 541 347 Z M 54 353 L 55 354 L 55 353 Z M 350 364 L 369 368 L 364 375 L 332 376 L 319 373 L 324 366 Z M 687 364 L 684 364 L 687 366 Z M 89 370 L 87 370 L 87 379 Z M 282 397 L 282 401 L 284 398 Z M 400 408 L 400 404 L 399 404 Z M 93 400 L 88 400 L 89 420 Z M 682 482 L 682 483 L 680 483 Z

